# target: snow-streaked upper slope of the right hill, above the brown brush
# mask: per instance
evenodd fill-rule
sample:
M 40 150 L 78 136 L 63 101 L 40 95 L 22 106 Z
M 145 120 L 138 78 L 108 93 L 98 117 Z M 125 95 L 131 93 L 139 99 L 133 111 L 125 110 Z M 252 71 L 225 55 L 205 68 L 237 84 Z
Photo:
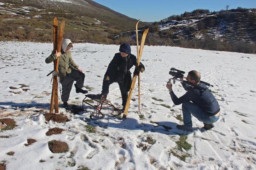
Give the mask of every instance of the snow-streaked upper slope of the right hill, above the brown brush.
M 174 41 L 198 40 L 206 35 L 225 42 L 256 41 L 256 9 L 219 11 L 160 23 L 160 32 Z

